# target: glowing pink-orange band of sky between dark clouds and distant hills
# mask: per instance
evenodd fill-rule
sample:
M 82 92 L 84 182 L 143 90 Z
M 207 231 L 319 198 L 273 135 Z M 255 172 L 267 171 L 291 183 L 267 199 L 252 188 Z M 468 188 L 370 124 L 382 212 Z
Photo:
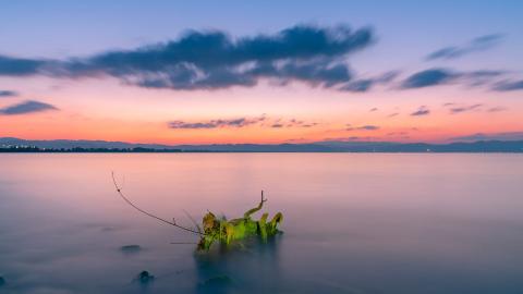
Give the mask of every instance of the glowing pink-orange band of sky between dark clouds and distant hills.
M 12 82 L 12 81 L 11 81 Z M 59 111 L 0 115 L 0 136 L 25 139 L 102 139 L 157 144 L 280 144 L 320 140 L 380 140 L 445 143 L 475 133 L 523 130 L 523 101 L 511 97 L 492 100 L 489 94 L 462 98 L 459 89 L 376 91 L 364 96 L 293 84 L 277 87 L 175 91 L 143 89 L 114 79 L 70 81 L 56 88 L 52 78 L 29 78 L 41 100 Z M 19 85 L 17 85 L 19 84 Z M 20 81 L 13 82 L 21 86 Z M 1 85 L 0 85 L 1 86 Z M 29 93 L 31 95 L 31 93 Z M 0 100 L 0 108 L 33 95 Z M 510 95 L 509 95 L 510 96 Z M 514 96 L 514 95 L 512 95 Z M 423 97 L 423 98 L 421 98 Z M 458 98 L 457 98 L 458 97 Z M 450 114 L 446 102 L 481 103 L 464 113 Z M 421 106 L 430 113 L 411 115 Z M 502 109 L 488 112 L 490 108 Z M 376 108 L 375 111 L 370 111 Z M 394 115 L 396 114 L 396 115 Z M 186 123 L 266 118 L 243 127 L 169 128 L 168 122 Z M 303 125 L 287 126 L 291 121 Z M 283 124 L 282 127 L 271 127 Z M 363 130 L 362 126 L 376 126 Z M 352 130 L 348 130 L 352 128 Z

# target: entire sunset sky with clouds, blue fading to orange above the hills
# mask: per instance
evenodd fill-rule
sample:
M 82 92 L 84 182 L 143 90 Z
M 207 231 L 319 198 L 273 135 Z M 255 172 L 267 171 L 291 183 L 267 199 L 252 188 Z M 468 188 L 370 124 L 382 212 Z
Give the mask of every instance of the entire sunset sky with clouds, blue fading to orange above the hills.
M 1 1 L 0 137 L 523 139 L 522 1 Z

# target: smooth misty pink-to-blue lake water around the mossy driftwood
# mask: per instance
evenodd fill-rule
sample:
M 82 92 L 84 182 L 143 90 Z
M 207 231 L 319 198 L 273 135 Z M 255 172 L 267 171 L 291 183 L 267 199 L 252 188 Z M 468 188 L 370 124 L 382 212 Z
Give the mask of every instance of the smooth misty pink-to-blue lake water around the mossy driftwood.
M 195 256 L 111 171 L 187 225 L 264 189 L 284 233 Z M 523 293 L 522 191 L 522 155 L 0 155 L 0 293 Z

